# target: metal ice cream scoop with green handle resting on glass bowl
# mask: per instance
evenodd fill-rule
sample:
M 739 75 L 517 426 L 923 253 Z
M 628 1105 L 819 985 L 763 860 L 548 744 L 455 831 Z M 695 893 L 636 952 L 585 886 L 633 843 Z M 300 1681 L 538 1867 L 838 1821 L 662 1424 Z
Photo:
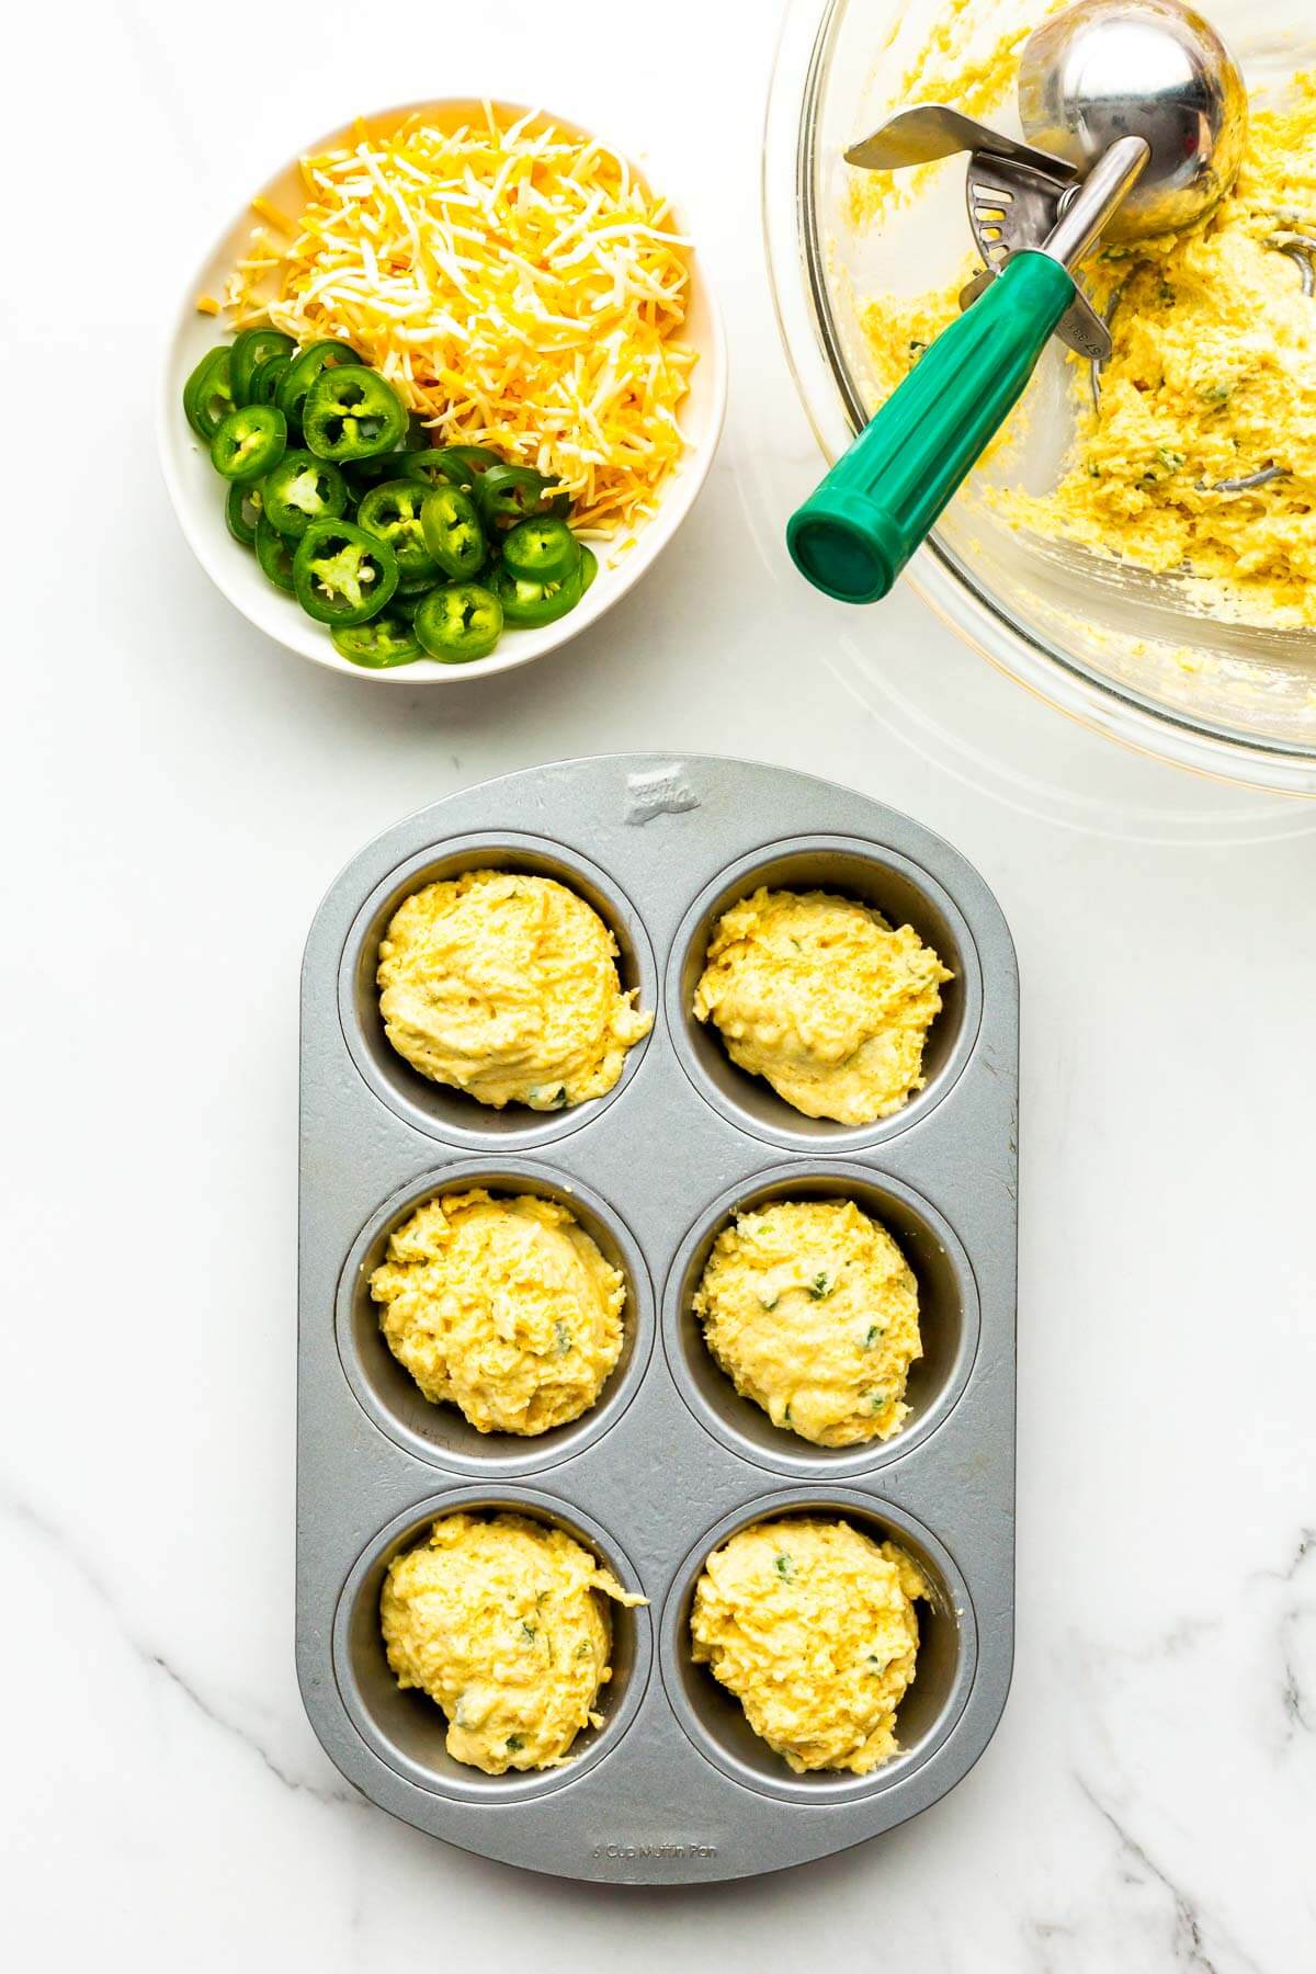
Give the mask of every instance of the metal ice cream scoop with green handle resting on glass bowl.
M 1024 136 L 915 105 L 846 162 L 902 170 L 969 152 L 983 272 L 963 314 L 787 523 L 795 567 L 829 596 L 876 602 L 1018 403 L 1052 336 L 1101 361 L 1109 330 L 1075 270 L 1103 239 L 1204 219 L 1229 191 L 1247 91 L 1215 30 L 1180 0 L 1079 0 L 1024 45 Z

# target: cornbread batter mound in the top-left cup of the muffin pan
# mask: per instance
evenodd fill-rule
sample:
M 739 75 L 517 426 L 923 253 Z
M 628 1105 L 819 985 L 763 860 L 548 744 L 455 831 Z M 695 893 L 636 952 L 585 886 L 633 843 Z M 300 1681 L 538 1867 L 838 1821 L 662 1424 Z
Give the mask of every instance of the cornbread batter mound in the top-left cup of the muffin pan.
M 503 1109 L 564 1109 L 616 1084 L 653 1015 L 618 981 L 618 942 L 548 876 L 464 871 L 393 914 L 379 1011 L 397 1052 L 436 1084 Z

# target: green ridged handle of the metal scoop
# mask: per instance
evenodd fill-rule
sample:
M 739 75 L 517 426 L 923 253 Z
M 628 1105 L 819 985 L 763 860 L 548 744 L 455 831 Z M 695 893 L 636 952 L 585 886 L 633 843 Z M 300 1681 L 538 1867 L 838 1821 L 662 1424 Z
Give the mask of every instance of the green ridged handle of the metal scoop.
M 896 582 L 1024 395 L 1075 296 L 1073 276 L 1024 251 L 923 351 L 785 527 L 827 596 L 872 604 Z

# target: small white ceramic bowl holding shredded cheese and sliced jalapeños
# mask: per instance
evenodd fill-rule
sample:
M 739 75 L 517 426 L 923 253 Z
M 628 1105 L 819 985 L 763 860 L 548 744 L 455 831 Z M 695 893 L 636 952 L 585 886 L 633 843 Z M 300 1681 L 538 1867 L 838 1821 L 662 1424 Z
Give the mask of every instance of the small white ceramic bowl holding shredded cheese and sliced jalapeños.
M 365 120 L 377 130 L 401 122 L 414 111 L 426 111 L 436 120 L 448 122 L 462 113 L 475 114 L 477 109 L 479 105 L 468 99 L 430 99 L 426 103 L 408 103 L 399 109 L 381 111 Z M 507 116 L 521 114 L 519 105 L 495 103 L 495 109 Z M 580 130 L 570 118 L 550 114 L 550 120 L 562 128 Z M 347 136 L 347 130 L 333 130 L 304 144 L 298 156 L 328 150 L 335 142 L 345 142 Z M 661 190 L 671 195 L 667 184 Z M 199 294 L 223 294 L 229 270 L 255 225 L 255 213 L 251 211 L 253 193 L 264 193 L 266 199 L 284 211 L 298 211 L 302 191 L 296 160 L 286 164 L 264 186 L 249 191 L 247 203 L 243 203 L 233 223 L 197 266 L 180 298 L 160 379 L 158 418 L 164 478 L 183 535 L 207 576 L 268 638 L 284 644 L 290 651 L 298 651 L 302 657 L 314 659 L 318 665 L 351 673 L 353 679 L 375 685 L 456 685 L 460 681 L 483 679 L 489 673 L 511 671 L 515 665 L 527 665 L 535 657 L 545 657 L 582 630 L 588 630 L 590 624 L 596 624 L 620 596 L 625 596 L 639 582 L 677 533 L 704 484 L 704 476 L 712 466 L 712 454 L 716 452 L 726 413 L 726 338 L 718 304 L 698 266 L 698 257 L 693 255 L 691 306 L 681 332 L 683 342 L 698 351 L 691 389 L 681 405 L 681 430 L 687 450 L 677 470 L 667 476 L 659 490 L 659 505 L 653 519 L 637 529 L 631 547 L 612 549 L 610 543 L 592 543 L 600 559 L 598 576 L 570 616 L 558 618 L 556 624 L 545 624 L 541 630 L 505 630 L 497 649 L 489 657 L 468 665 L 438 665 L 422 657 L 414 665 L 401 665 L 393 671 L 367 671 L 341 657 L 333 649 L 328 628 L 308 618 L 296 598 L 276 590 L 262 576 L 255 555 L 233 541 L 223 513 L 225 482 L 215 474 L 209 454 L 183 418 L 183 383 L 187 375 L 211 343 L 225 340 L 229 334 L 225 318 L 217 320 L 199 314 L 195 302 Z M 677 225 L 685 231 L 681 225 L 681 205 L 675 199 L 673 205 Z

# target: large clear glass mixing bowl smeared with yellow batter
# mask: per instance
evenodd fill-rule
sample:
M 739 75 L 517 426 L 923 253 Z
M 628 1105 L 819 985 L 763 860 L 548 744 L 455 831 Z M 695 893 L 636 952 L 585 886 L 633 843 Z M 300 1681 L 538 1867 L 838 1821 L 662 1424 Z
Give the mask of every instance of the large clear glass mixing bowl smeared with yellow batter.
M 876 403 L 854 298 L 939 288 L 971 247 L 963 160 L 941 166 L 880 229 L 856 227 L 844 195 L 844 146 L 900 105 L 910 53 L 943 10 L 945 0 L 787 0 L 764 142 L 764 225 L 787 357 L 829 460 Z M 988 0 L 957 32 L 973 41 L 1002 12 L 1030 26 L 1046 6 Z M 1251 89 L 1279 91 L 1316 61 L 1310 0 L 1207 0 L 1207 12 Z M 1018 132 L 1012 103 L 988 120 Z M 1054 343 L 1004 478 L 1046 492 L 1071 434 L 1071 371 Z M 983 503 L 990 472 L 971 478 L 910 565 L 939 616 L 1089 726 L 1190 768 L 1316 796 L 1316 632 L 1229 624 L 1174 578 L 1018 533 Z

